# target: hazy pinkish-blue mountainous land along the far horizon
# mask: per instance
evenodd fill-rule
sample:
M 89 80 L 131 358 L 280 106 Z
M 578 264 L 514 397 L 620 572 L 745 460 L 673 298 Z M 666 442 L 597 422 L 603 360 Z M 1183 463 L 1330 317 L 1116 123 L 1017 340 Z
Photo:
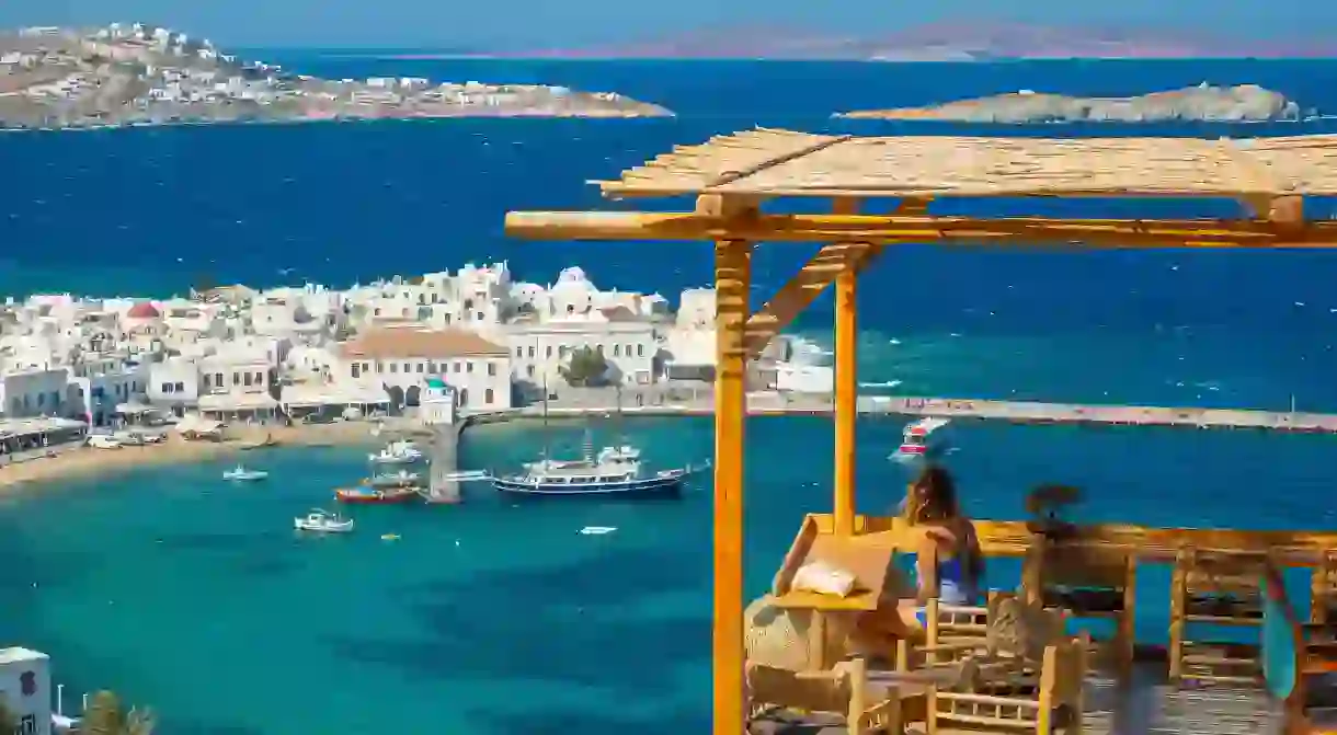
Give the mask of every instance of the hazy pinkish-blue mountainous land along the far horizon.
M 1218 37 L 1189 28 L 1082 27 L 941 21 L 888 33 L 825 33 L 774 24 L 719 25 L 659 39 L 509 56 L 556 59 L 796 59 L 860 61 L 1005 61 L 1029 59 L 1297 59 L 1337 56 L 1312 39 Z

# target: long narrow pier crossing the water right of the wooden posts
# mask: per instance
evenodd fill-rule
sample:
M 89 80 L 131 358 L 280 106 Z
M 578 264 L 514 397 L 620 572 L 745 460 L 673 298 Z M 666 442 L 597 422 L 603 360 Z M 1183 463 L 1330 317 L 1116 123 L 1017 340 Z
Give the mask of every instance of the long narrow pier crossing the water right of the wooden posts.
M 1115 406 L 1042 404 L 976 398 L 894 396 L 864 398 L 866 413 L 984 418 L 1017 424 L 1104 424 L 1123 426 L 1185 426 L 1195 429 L 1265 429 L 1270 432 L 1337 433 L 1337 414 L 1249 409 Z

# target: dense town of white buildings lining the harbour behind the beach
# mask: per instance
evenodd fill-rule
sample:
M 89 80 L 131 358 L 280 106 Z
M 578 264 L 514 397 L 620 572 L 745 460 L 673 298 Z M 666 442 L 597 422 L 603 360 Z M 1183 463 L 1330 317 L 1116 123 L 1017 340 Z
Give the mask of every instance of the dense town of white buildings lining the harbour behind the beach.
M 189 298 L 9 299 L 0 307 L 0 436 L 33 420 L 321 421 L 413 412 L 427 381 L 460 414 L 566 392 L 709 386 L 714 291 L 677 311 L 658 294 L 598 289 L 578 267 L 555 283 L 507 263 L 348 290 L 245 286 Z M 830 393 L 830 368 L 790 341 L 754 363 L 758 390 Z M 806 353 L 805 353 L 806 354 Z M 796 358 L 797 357 L 797 358 Z

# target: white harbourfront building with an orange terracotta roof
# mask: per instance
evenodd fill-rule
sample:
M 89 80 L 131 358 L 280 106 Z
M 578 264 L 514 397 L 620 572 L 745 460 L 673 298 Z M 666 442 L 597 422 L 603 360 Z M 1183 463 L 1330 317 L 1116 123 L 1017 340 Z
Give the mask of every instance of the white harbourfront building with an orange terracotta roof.
M 460 329 L 372 329 L 341 345 L 336 382 L 380 385 L 392 406 L 417 406 L 428 378 L 455 390 L 467 412 L 509 409 L 511 355 L 496 343 Z

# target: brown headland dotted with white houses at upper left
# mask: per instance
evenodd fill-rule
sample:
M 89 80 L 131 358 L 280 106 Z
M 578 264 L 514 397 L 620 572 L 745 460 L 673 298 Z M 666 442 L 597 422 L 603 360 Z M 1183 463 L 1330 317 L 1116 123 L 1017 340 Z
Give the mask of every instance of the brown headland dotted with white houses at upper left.
M 658 118 L 616 92 L 317 79 L 140 23 L 0 32 L 0 128 L 393 118 Z

